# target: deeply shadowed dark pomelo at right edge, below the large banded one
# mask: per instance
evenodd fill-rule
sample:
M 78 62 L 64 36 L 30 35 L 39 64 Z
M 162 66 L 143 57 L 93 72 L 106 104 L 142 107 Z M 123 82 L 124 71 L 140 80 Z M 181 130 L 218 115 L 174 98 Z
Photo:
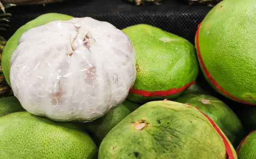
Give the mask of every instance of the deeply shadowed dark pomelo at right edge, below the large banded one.
M 256 107 L 247 107 L 238 114 L 246 131 L 256 130 Z

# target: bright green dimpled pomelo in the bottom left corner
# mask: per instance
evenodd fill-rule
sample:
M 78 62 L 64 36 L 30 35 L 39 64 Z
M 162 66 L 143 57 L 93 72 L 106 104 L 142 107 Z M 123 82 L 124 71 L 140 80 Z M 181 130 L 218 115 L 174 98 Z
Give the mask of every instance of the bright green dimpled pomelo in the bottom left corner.
M 0 117 L 1 159 L 92 159 L 97 147 L 71 123 L 53 122 L 28 112 Z

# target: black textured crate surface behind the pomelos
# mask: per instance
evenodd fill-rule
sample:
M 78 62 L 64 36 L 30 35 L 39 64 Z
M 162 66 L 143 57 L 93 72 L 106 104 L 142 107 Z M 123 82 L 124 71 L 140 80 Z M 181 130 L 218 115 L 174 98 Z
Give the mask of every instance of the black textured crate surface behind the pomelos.
M 151 6 L 134 6 L 124 0 L 68 0 L 46 6 L 18 6 L 8 10 L 13 14 L 11 28 L 0 34 L 9 38 L 20 26 L 37 16 L 57 12 L 74 17 L 93 17 L 110 22 L 119 29 L 146 23 L 194 43 L 197 25 L 211 8 L 187 5 L 181 0 L 165 0 L 162 5 Z

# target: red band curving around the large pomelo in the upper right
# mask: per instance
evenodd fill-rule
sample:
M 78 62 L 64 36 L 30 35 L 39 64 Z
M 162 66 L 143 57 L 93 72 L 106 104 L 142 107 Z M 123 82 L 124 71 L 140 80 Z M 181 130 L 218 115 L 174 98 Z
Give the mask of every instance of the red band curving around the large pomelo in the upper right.
M 202 23 L 202 22 L 201 22 Z M 196 33 L 196 47 L 197 47 L 197 57 L 198 57 L 198 60 L 205 72 L 205 75 L 207 75 L 207 78 L 212 82 L 212 84 L 220 91 L 222 92 L 223 94 L 227 95 L 228 97 L 230 97 L 231 99 L 234 99 L 236 100 L 237 102 L 240 102 L 240 103 L 243 103 L 243 104 L 249 104 L 249 105 L 256 105 L 256 104 L 253 104 L 253 103 L 250 103 L 250 102 L 247 102 L 247 101 L 243 101 L 241 99 L 238 99 L 236 97 L 234 97 L 233 95 L 231 95 L 230 93 L 228 93 L 227 91 L 225 91 L 223 88 L 220 87 L 220 85 L 212 78 L 212 76 L 210 75 L 210 73 L 208 72 L 207 68 L 205 67 L 205 63 L 203 62 L 202 60 L 202 55 L 201 55 L 201 52 L 200 52 L 200 48 L 199 48 L 199 28 L 201 26 L 201 23 L 198 25 L 197 27 L 197 33 Z

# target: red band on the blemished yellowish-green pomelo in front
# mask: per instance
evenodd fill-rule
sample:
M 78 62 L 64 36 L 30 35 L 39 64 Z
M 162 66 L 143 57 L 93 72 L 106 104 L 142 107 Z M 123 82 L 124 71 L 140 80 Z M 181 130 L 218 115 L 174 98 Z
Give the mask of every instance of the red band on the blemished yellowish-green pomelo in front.
M 189 103 L 186 103 L 187 105 L 190 105 Z M 191 105 L 190 105 L 191 106 Z M 194 107 L 194 106 L 193 106 Z M 233 151 L 230 147 L 230 144 L 228 144 L 228 140 L 224 137 L 224 135 L 220 132 L 220 129 L 217 127 L 217 125 L 212 121 L 212 119 L 210 117 L 208 117 L 205 113 L 203 113 L 200 109 L 198 109 L 197 107 L 195 107 L 199 112 L 201 112 L 208 120 L 209 122 L 212 124 L 212 126 L 214 127 L 214 129 L 218 132 L 218 134 L 220 135 L 220 137 L 222 138 L 224 145 L 225 145 L 225 149 L 226 152 L 228 154 L 228 159 L 235 159 Z

